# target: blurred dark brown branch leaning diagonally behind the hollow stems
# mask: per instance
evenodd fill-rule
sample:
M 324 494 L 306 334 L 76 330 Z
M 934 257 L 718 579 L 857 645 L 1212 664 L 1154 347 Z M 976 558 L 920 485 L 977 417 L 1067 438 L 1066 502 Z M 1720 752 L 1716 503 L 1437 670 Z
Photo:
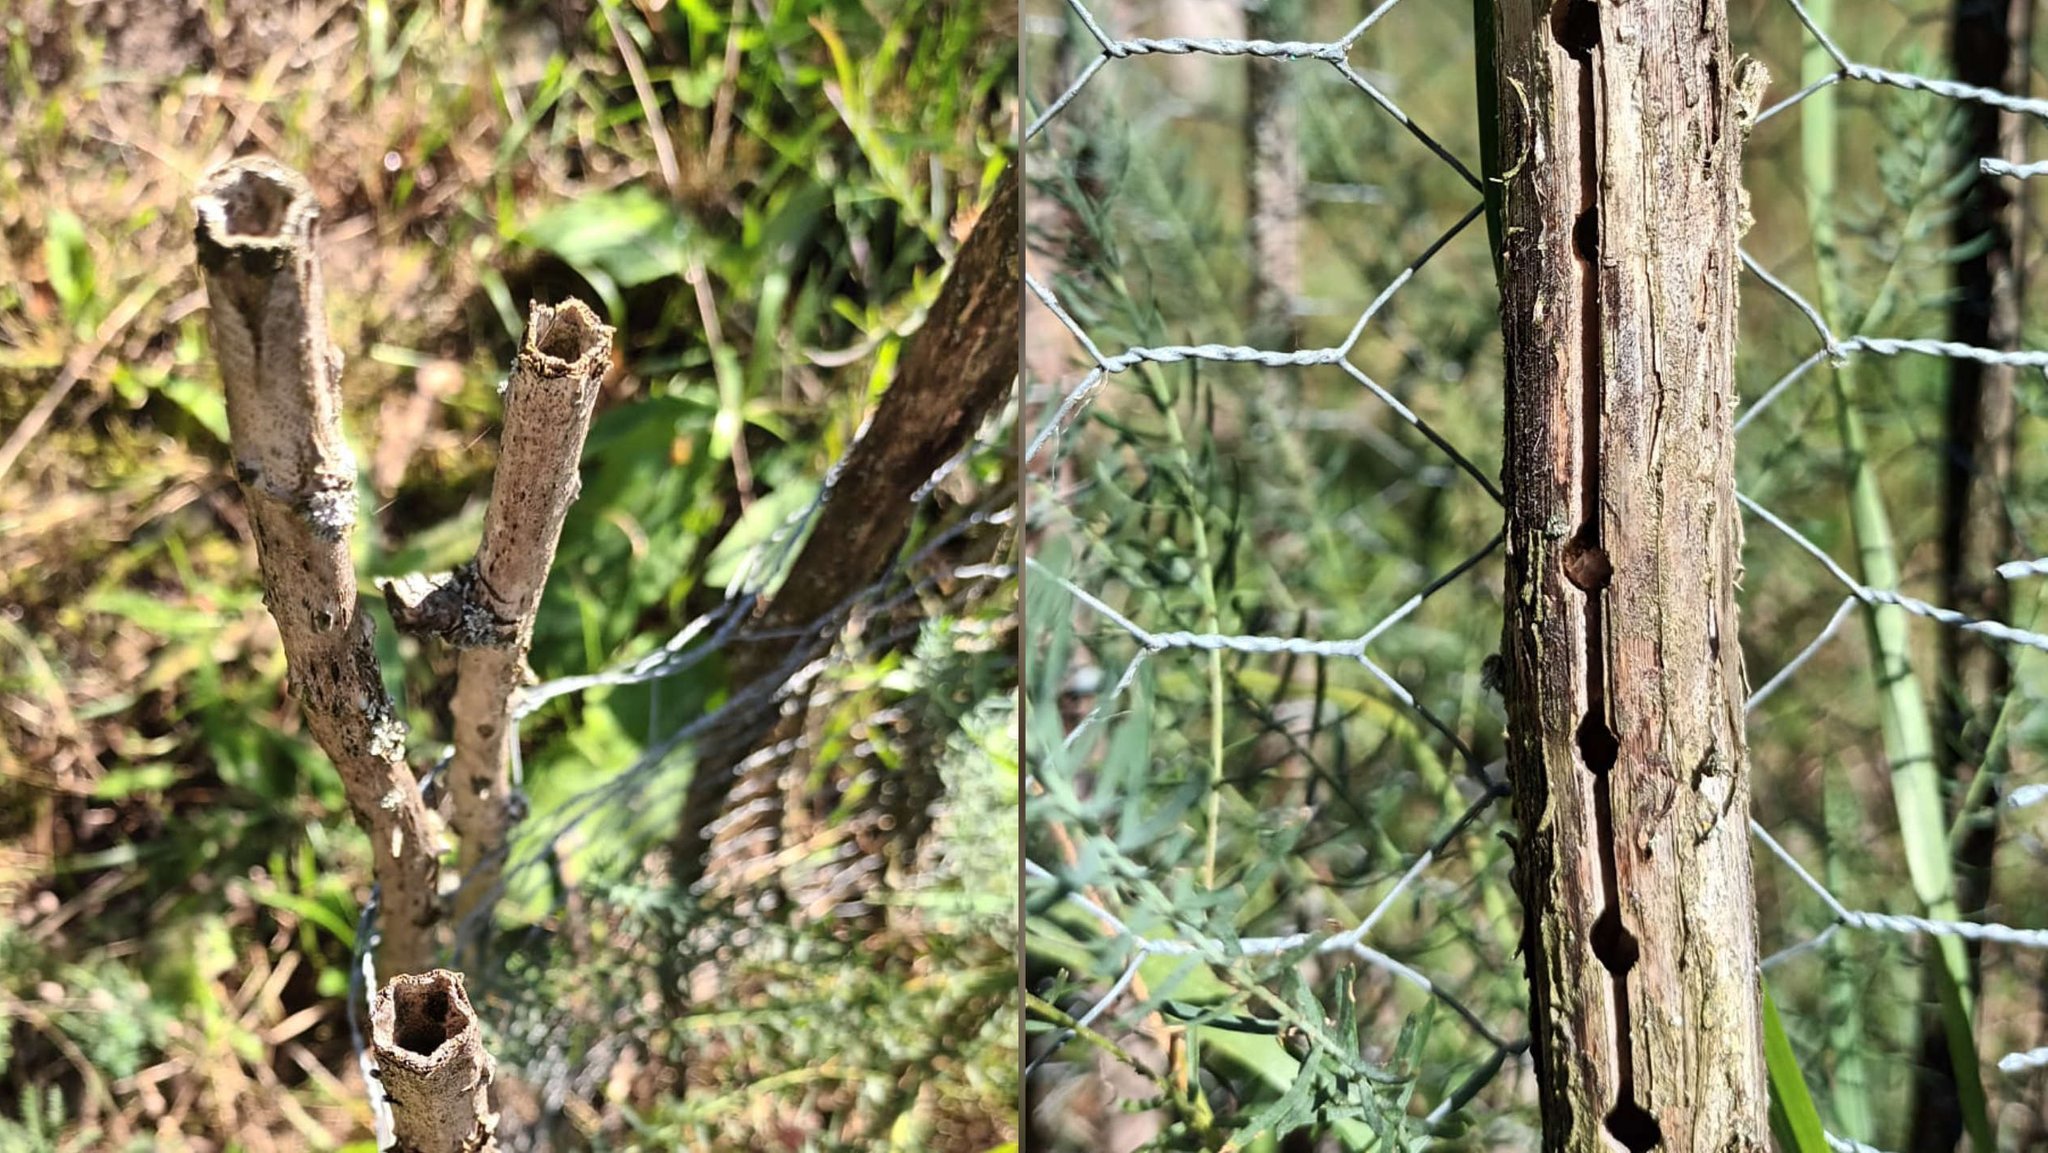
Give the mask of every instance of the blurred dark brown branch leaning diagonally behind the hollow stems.
M 895 381 L 817 514 L 809 541 L 774 600 L 735 639 L 729 657 L 733 696 L 784 670 L 791 651 L 825 645 L 840 625 L 840 604 L 881 580 L 909 537 L 911 498 L 958 455 L 993 412 L 1018 373 L 1018 184 L 1008 172 L 987 211 L 961 246 L 952 272 L 924 328 L 911 336 Z M 801 641 L 791 641 L 801 635 Z M 741 803 L 774 813 L 776 764 L 741 778 L 741 762 L 774 731 L 774 698 L 739 717 L 696 752 L 696 768 L 672 844 L 674 877 L 688 889 L 707 868 L 711 827 Z M 758 815 L 752 823 L 766 821 Z M 721 834 L 731 836 L 731 834 Z

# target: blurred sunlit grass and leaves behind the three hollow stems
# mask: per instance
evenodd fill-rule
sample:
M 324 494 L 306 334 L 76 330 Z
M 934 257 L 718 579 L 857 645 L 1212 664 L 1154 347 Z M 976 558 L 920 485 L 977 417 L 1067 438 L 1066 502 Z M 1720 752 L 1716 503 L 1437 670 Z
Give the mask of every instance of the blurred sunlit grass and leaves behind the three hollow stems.
M 715 608 L 887 387 L 1012 162 L 1014 16 L 31 0 L 0 20 L 0 1147 L 367 1147 L 344 1018 L 367 844 L 287 704 L 190 268 L 193 184 L 260 150 L 322 193 L 365 588 L 475 547 L 526 301 L 578 295 L 621 328 L 532 647 L 541 678 L 596 672 Z M 1010 471 L 975 455 L 922 539 L 1008 500 Z M 688 1057 L 690 1092 L 580 1071 L 555 1147 L 1014 1137 L 1014 887 L 967 852 L 1014 819 L 1014 737 L 989 713 L 1014 694 L 1012 598 L 926 590 L 891 614 L 911 641 L 842 653 L 813 758 L 825 829 L 905 758 L 944 766 L 924 856 L 870 895 L 887 915 L 866 938 L 754 926 L 760 973 L 735 960 L 721 1006 L 752 1024 L 635 1038 L 643 1069 Z M 381 625 L 430 764 L 449 661 Z M 711 659 L 553 700 L 524 729 L 537 819 L 723 698 Z M 911 739 L 905 715 L 930 729 Z M 604 938 L 592 967 L 639 948 L 625 895 L 657 881 L 625 831 L 647 817 L 627 797 L 561 846 Z M 559 893 L 522 895 L 506 915 L 526 936 L 569 938 Z M 487 1018 L 580 981 L 516 977 Z M 539 1077 L 504 1044 L 508 1073 Z

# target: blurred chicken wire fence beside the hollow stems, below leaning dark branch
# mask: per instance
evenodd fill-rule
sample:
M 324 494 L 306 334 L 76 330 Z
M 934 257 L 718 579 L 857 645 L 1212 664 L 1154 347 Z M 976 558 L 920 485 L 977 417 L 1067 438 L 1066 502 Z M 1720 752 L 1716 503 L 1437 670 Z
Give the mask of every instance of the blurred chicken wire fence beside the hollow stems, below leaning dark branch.
M 983 874 L 985 862 L 961 860 L 961 831 L 946 827 L 956 823 L 946 809 L 948 801 L 958 803 L 963 793 L 979 788 L 954 772 L 963 756 L 975 756 L 961 741 L 1001 743 L 1004 733 L 1014 729 L 1008 709 L 999 707 L 999 668 L 1008 666 L 1001 612 L 989 616 L 991 610 L 979 608 L 1001 606 L 1004 588 L 1016 575 L 1014 565 L 1001 563 L 1006 549 L 999 545 L 1014 532 L 1016 520 L 1014 489 L 999 479 L 1012 455 L 1012 428 L 1014 410 L 991 416 L 967 449 L 934 471 L 909 498 L 915 508 L 911 539 L 889 571 L 864 588 L 846 590 L 819 618 L 780 631 L 750 627 L 819 526 L 860 436 L 827 471 L 817 494 L 745 553 L 713 610 L 637 659 L 528 684 L 518 692 L 512 709 L 520 725 L 512 741 L 518 823 L 500 852 L 506 866 L 492 897 L 455 926 L 455 944 L 444 958 L 469 981 L 485 1049 L 500 1067 L 500 1112 L 520 1122 L 502 1137 L 508 1151 L 561 1147 L 565 1124 L 582 1139 L 606 1128 L 610 1122 L 600 1124 L 592 1102 L 610 1096 L 618 1104 L 625 1092 L 621 1075 L 645 1075 L 649 1059 L 655 1065 L 666 1059 L 664 1044 L 686 1044 L 678 1006 L 688 1006 L 700 991 L 707 965 L 723 967 L 723 977 L 745 963 L 772 967 L 788 963 L 793 952 L 807 952 L 809 963 L 821 967 L 829 963 L 829 950 L 821 950 L 817 940 L 799 944 L 803 934 L 791 932 L 793 926 L 844 922 L 872 930 L 877 926 L 862 917 L 891 915 L 891 905 L 911 905 L 915 915 L 920 893 L 952 885 L 973 897 L 999 885 Z M 664 709 L 666 684 L 692 670 L 715 668 L 707 661 L 741 643 L 774 643 L 786 655 L 752 684 L 733 686 L 715 707 L 682 700 Z M 780 874 L 772 887 L 729 891 L 731 879 L 725 877 L 705 877 L 690 891 L 672 885 L 659 856 L 682 811 L 692 754 L 731 739 L 758 743 L 733 764 L 735 780 L 762 766 L 815 764 L 817 745 L 840 733 L 821 735 L 807 725 L 797 735 L 770 733 L 780 739 L 756 737 L 768 731 L 762 719 L 793 711 L 829 715 L 844 702 L 858 702 L 872 682 L 856 674 L 848 684 L 848 670 L 891 657 L 922 668 L 922 676 L 934 676 L 961 694 L 979 692 L 979 698 L 969 700 L 961 717 L 938 719 L 938 713 L 963 704 L 944 694 L 864 715 L 854 733 L 862 739 L 836 748 L 838 764 L 825 772 L 827 780 L 813 784 L 838 801 L 860 793 L 868 797 L 866 809 L 854 805 L 852 819 L 844 819 L 848 813 L 842 807 L 809 840 L 780 846 Z M 639 754 L 623 766 L 598 766 L 600 782 L 594 786 L 545 807 L 528 803 L 520 750 L 530 741 L 537 719 L 545 719 L 555 702 L 629 686 L 645 686 L 651 694 Z M 885 733 L 905 723 L 930 725 L 938 733 L 938 758 L 946 762 L 948 780 L 944 795 L 924 799 L 932 809 L 922 813 L 930 819 L 922 827 L 938 836 L 918 846 L 924 852 L 922 870 L 883 877 L 877 842 L 899 829 L 874 805 L 881 793 L 874 758 L 877 745 L 889 741 Z M 444 752 L 420 778 L 430 805 L 451 756 Z M 967 803 L 969 809 L 991 805 L 995 801 L 987 797 L 969 797 Z M 727 807 L 719 823 L 748 815 Z M 893 817 L 899 821 L 901 813 Z M 494 915 L 494 907 L 506 905 L 514 907 L 512 928 Z M 961 924 L 973 928 L 973 917 Z M 379 987 L 373 963 L 377 926 L 379 893 L 373 889 L 356 926 L 348 1024 L 377 1133 L 387 1135 L 389 1106 L 367 1044 L 369 995 Z M 997 930 L 981 924 L 977 932 Z M 963 997 L 940 999 L 969 1014 L 963 1022 L 967 1034 L 991 1022 L 1001 1026 L 999 1016 L 979 1012 L 987 1006 L 973 997 L 965 997 L 965 1006 L 958 1003 Z M 737 1047 L 739 1034 L 758 1040 L 764 1028 L 774 1028 L 770 1014 L 754 1018 L 760 1020 L 713 1022 L 705 1036 L 688 1044 L 702 1047 L 709 1036 L 713 1044 Z M 815 1020 L 791 1014 L 786 1028 L 801 1032 L 815 1028 Z M 946 1040 L 956 1042 L 958 1036 Z M 877 1055 L 846 1057 L 842 1073 Z M 506 1075 L 520 1085 L 508 1090 Z M 508 1100 L 508 1092 L 516 1092 L 518 1100 Z M 580 1145 L 571 1139 L 569 1147 Z

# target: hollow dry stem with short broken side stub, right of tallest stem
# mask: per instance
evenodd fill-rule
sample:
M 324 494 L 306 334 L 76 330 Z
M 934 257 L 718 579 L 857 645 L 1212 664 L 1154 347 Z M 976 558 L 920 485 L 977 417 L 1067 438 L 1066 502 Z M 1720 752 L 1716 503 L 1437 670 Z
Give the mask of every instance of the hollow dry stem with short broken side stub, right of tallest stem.
M 512 694 L 526 672 L 561 520 L 580 485 L 584 434 L 610 348 L 612 330 L 580 301 L 532 305 L 526 342 L 506 383 L 498 471 L 475 561 L 424 594 L 418 584 L 385 586 L 401 631 L 440 635 L 461 649 L 446 793 L 449 825 L 461 838 L 455 917 L 465 930 L 471 913 L 492 905 L 504 872 L 518 735 Z

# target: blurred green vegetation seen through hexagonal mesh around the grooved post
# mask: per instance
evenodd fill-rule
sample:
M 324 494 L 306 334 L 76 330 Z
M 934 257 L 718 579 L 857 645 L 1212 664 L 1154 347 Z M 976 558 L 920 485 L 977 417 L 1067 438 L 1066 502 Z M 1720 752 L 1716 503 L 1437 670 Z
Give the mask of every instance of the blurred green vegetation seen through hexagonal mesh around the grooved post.
M 1333 39 L 1370 8 L 1317 6 L 1270 35 Z M 1112 37 L 1245 35 L 1237 8 L 1214 4 L 1090 10 Z M 1855 59 L 1939 76 L 1946 14 L 1937 4 L 1880 4 L 1843 10 L 1831 31 Z M 1769 66 L 1769 100 L 1792 94 L 1804 37 L 1792 10 L 1741 0 L 1731 27 L 1737 49 Z M 1030 119 L 1100 49 L 1055 0 L 1026 4 L 1026 29 Z M 1477 170 L 1470 35 L 1466 6 L 1401 4 L 1358 41 L 1350 63 Z M 1366 305 L 1477 205 L 1450 166 L 1323 63 L 1112 59 L 1026 145 L 1034 274 L 1104 354 L 1260 344 L 1257 326 L 1270 317 L 1251 311 L 1251 70 L 1286 70 L 1300 117 L 1303 285 L 1290 317 L 1300 348 L 1341 344 Z M 1944 338 L 1952 266 L 1968 250 L 1946 229 L 1976 170 L 1960 147 L 1960 113 L 1925 92 L 1872 84 L 1831 94 L 1843 143 L 1827 209 L 1839 219 L 1831 258 L 1843 293 L 1827 301 L 1829 322 L 1837 334 Z M 1749 141 L 1757 223 L 1745 248 L 1823 301 L 1800 172 L 1802 119 L 1815 115 L 1819 104 L 1786 111 Z M 2040 180 L 2011 190 L 2038 219 Z M 1493 285 L 1485 227 L 1473 223 L 1374 313 L 1350 354 L 1487 477 L 1501 461 Z M 1737 379 L 1749 403 L 1821 340 L 1757 279 L 1741 287 Z M 1860 328 L 1866 317 L 1876 328 Z M 1090 358 L 1047 309 L 1034 305 L 1026 328 L 1036 434 Z M 2021 346 L 2044 342 L 2048 326 L 2032 309 Z M 1737 467 L 1745 494 L 1853 569 L 1858 461 L 1839 436 L 1843 401 L 1829 373 L 1808 373 L 1755 418 Z M 1901 588 L 1942 602 L 1946 365 L 1866 356 L 1855 373 L 1847 403 L 1896 535 Z M 2019 557 L 2040 555 L 2048 530 L 2048 475 L 2036 467 L 2048 430 L 2040 383 L 2040 373 L 2017 383 L 2021 449 L 2001 494 Z M 1061 446 L 1032 461 L 1028 510 L 1036 567 L 1026 575 L 1026 856 L 1053 872 L 1026 887 L 1034 1139 L 1049 1149 L 1536 1147 L 1530 1061 L 1503 1057 L 1495 1040 L 1528 1034 L 1520 907 L 1499 836 L 1511 815 L 1497 805 L 1456 827 L 1481 791 L 1473 770 L 1497 776 L 1505 756 L 1481 672 L 1499 645 L 1499 555 L 1372 639 L 1368 655 L 1399 692 L 1350 659 L 1145 653 L 1079 598 L 1100 598 L 1153 633 L 1354 639 L 1483 551 L 1499 506 L 1335 367 L 1149 360 L 1110 377 Z M 1761 686 L 1827 627 L 1847 590 L 1761 520 L 1747 520 L 1747 537 L 1743 641 L 1751 684 Z M 2013 586 L 2013 625 L 2040 627 L 2025 584 Z M 1925 618 L 1905 625 L 1929 707 L 1937 629 Z M 1843 905 L 1923 913 L 1901 848 L 1868 643 L 1849 621 L 1751 715 L 1753 813 Z M 2048 661 L 2013 653 L 2007 772 L 2036 780 L 2048 752 L 2038 707 Z M 1135 659 L 1143 666 L 1110 700 Z M 1952 815 L 1960 797 L 1944 803 Z M 2001 815 L 1993 903 L 1964 915 L 2048 924 L 2042 829 L 2038 809 Z M 1425 977 L 1483 1028 L 1389 965 L 1303 950 L 1229 963 L 1157 952 L 1118 985 L 1128 942 L 1067 899 L 1087 897 L 1155 940 L 1210 938 L 1229 950 L 1243 938 L 1360 924 L 1440 840 L 1436 860 L 1380 911 L 1364 944 Z M 1802 881 L 1761 846 L 1755 860 L 1765 954 L 1829 930 L 1831 911 Z M 1796 1061 L 1831 1133 L 1907 1143 L 1925 958 L 1923 940 L 1837 932 L 1769 969 L 1784 1040 L 1774 1069 Z M 2044 1042 L 2040 958 L 1995 946 L 1982 958 L 1976 1044 L 1991 1112 L 2023 1143 L 2048 1133 L 2042 1081 L 1999 1075 L 1991 1063 Z M 1075 1032 L 1112 987 L 1122 997 Z M 1305 1036 L 1296 1020 L 1329 1034 Z M 1425 1120 L 1438 1108 L 1442 1116 Z

